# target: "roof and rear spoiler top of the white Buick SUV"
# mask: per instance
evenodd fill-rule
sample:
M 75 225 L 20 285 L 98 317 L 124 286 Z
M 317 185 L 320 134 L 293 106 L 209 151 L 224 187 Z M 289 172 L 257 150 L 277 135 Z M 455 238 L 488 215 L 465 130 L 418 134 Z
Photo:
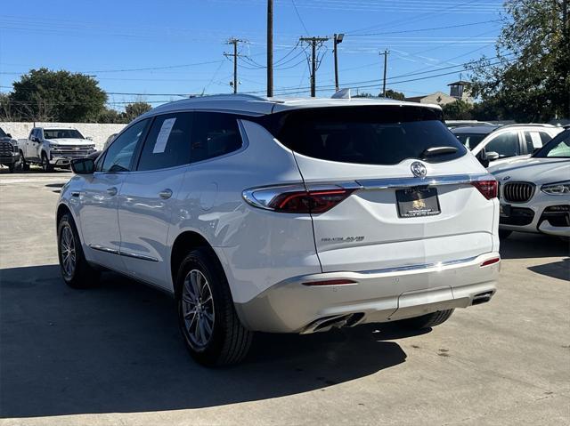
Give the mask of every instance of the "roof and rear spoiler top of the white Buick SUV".
M 289 109 L 364 105 L 413 105 L 422 108 L 440 109 L 439 105 L 435 104 L 418 104 L 409 101 L 392 100 L 386 98 L 265 98 L 249 94 L 220 94 L 168 102 L 166 104 L 160 105 L 155 109 L 151 109 L 151 111 L 147 112 L 141 117 L 184 109 L 216 109 L 250 116 L 262 116 L 265 114 L 272 114 L 274 112 L 280 112 Z

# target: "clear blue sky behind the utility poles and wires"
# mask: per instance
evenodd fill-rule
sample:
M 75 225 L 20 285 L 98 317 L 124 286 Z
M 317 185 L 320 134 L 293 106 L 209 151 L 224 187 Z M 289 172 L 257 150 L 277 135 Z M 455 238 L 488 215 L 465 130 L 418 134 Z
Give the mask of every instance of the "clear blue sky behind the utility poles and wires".
M 447 92 L 460 64 L 495 55 L 501 11 L 498 0 L 274 0 L 275 93 L 308 95 L 310 51 L 298 38 L 333 33 L 346 35 L 338 48 L 341 86 L 377 94 L 379 52 L 388 49 L 388 88 L 407 96 Z M 177 94 L 231 92 L 232 61 L 223 53 L 233 36 L 247 40 L 240 92 L 263 94 L 265 12 L 265 0 L 6 0 L 0 91 L 46 67 L 96 76 L 117 109 L 131 100 L 158 105 Z M 317 94 L 330 96 L 331 41 L 319 57 Z

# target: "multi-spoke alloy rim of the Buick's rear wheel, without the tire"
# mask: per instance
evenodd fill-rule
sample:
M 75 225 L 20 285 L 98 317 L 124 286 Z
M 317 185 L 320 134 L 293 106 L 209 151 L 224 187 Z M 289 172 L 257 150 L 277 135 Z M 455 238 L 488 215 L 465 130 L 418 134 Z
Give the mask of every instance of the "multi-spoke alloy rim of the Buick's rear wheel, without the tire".
M 198 269 L 192 269 L 184 278 L 182 314 L 191 347 L 204 349 L 214 333 L 215 310 L 208 279 Z

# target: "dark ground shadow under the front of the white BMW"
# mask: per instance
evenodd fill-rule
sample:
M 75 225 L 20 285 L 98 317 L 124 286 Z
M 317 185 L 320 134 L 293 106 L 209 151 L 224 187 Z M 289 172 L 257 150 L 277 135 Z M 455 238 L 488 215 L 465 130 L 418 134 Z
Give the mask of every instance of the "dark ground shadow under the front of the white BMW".
M 570 244 L 561 238 L 542 234 L 513 232 L 501 239 L 502 259 L 529 259 L 568 256 Z

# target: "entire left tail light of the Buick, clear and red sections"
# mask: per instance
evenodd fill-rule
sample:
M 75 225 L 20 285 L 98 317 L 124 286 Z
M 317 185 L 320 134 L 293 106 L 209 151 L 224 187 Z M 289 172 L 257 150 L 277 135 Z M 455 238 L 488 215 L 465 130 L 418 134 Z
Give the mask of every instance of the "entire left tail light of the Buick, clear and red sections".
M 301 185 L 248 189 L 243 198 L 265 210 L 281 213 L 324 213 L 344 201 L 354 189 L 340 187 L 306 190 Z

